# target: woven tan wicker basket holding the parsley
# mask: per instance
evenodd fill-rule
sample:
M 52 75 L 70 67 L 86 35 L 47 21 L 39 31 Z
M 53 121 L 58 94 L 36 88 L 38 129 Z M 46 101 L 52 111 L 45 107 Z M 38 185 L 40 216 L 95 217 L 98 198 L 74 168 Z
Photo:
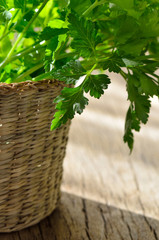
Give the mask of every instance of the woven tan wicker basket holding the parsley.
M 48 216 L 60 198 L 70 123 L 54 132 L 56 80 L 0 84 L 0 232 Z

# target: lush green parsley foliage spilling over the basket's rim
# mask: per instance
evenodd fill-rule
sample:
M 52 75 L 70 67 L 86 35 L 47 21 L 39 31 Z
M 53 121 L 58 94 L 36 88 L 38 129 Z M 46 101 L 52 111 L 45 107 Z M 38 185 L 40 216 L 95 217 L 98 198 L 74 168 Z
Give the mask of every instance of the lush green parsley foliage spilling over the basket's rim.
M 159 95 L 158 69 L 158 0 L 0 1 L 0 82 L 65 82 L 52 129 L 83 112 L 85 93 L 99 99 L 115 72 L 126 82 L 123 139 L 132 150 Z

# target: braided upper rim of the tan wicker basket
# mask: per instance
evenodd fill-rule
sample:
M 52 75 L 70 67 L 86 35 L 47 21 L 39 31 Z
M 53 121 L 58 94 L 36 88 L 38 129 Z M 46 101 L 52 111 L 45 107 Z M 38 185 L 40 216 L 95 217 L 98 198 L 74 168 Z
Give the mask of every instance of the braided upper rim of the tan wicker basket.
M 64 82 L 61 82 L 57 79 L 44 79 L 41 81 L 25 81 L 19 83 L 0 83 L 0 92 L 13 92 L 13 91 L 24 91 L 29 90 L 31 88 L 50 88 L 50 87 L 64 87 Z

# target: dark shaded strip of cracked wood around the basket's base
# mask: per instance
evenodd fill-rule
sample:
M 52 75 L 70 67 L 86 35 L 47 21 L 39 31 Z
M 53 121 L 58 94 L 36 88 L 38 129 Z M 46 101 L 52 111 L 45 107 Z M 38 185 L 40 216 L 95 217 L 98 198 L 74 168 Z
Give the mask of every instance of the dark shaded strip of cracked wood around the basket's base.
M 62 193 L 59 207 L 39 224 L 0 240 L 158 240 L 159 221 Z

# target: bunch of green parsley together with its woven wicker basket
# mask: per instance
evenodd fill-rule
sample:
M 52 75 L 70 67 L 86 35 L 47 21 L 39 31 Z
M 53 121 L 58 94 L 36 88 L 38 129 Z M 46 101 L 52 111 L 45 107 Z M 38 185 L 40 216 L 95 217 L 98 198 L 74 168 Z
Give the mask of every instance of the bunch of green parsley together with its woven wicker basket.
M 159 94 L 159 1 L 2 0 L 0 24 L 0 231 L 7 232 L 57 206 L 70 119 L 88 104 L 85 93 L 104 94 L 113 81 L 107 72 L 126 81 L 124 141 L 132 151 L 133 131 Z

